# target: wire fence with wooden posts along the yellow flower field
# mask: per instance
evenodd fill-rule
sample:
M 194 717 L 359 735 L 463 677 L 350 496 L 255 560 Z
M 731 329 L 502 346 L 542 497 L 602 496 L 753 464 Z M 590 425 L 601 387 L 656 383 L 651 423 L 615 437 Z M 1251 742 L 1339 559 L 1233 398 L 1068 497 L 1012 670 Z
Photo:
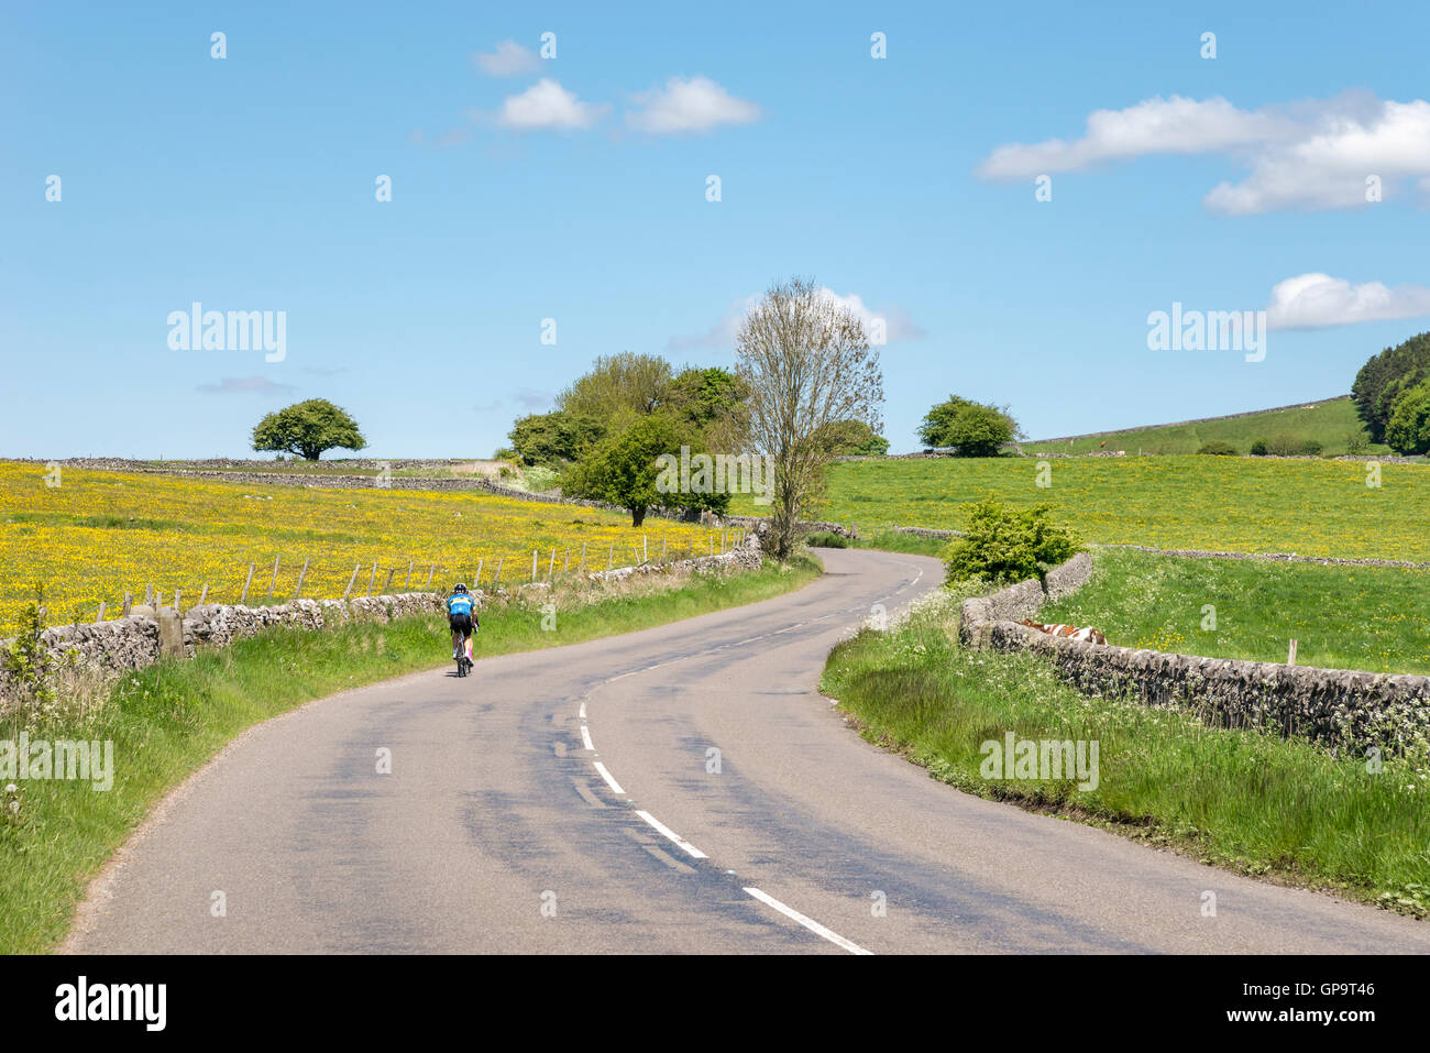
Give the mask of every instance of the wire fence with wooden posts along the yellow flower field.
M 652 545 L 646 535 L 639 541 L 609 545 L 583 542 L 571 545 L 542 545 L 531 549 L 531 557 L 500 552 L 446 562 L 418 558 L 379 558 L 362 562 L 337 562 L 305 554 L 276 554 L 269 559 L 240 564 L 222 578 L 197 579 L 183 571 L 156 574 L 147 582 L 136 582 L 122 595 L 99 598 L 90 608 L 92 618 L 83 618 L 72 608 L 74 621 L 110 621 L 129 615 L 134 607 L 172 607 L 180 612 L 204 604 L 246 604 L 266 607 L 292 599 L 355 599 L 358 597 L 393 595 L 400 592 L 448 591 L 456 582 L 470 589 L 495 591 L 538 581 L 576 578 L 596 571 L 613 571 L 642 564 L 668 564 L 701 555 L 729 552 L 746 537 L 745 529 L 709 531 L 704 544 L 688 541 L 671 545 L 662 538 Z

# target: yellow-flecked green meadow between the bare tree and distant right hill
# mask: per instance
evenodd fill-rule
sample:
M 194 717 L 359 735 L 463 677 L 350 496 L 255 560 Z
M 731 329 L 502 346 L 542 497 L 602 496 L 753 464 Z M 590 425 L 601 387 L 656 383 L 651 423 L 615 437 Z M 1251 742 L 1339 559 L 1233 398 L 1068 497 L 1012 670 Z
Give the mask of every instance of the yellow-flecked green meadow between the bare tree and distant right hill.
M 1230 456 L 851 461 L 829 472 L 822 519 L 861 534 L 962 526 L 964 505 L 997 494 L 1045 501 L 1084 541 L 1237 552 L 1430 562 L 1430 469 L 1383 465 L 1381 485 L 1351 461 Z M 732 511 L 755 512 L 745 496 Z M 738 508 L 734 508 L 739 505 Z

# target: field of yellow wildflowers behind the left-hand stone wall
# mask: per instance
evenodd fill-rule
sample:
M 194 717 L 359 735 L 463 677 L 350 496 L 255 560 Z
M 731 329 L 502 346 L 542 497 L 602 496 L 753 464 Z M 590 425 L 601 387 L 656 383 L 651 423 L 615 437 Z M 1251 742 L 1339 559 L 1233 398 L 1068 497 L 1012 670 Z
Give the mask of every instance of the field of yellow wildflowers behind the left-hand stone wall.
M 124 594 L 142 602 L 153 587 L 184 608 L 207 585 L 210 602 L 237 602 L 252 571 L 249 602 L 313 599 L 372 589 L 489 587 L 538 578 L 552 565 L 576 571 L 626 567 L 645 554 L 702 555 L 719 534 L 694 524 L 578 505 L 539 504 L 472 491 L 322 489 L 61 468 L 47 485 L 43 465 L 0 462 L 0 635 L 16 630 L 46 588 L 51 624 L 119 617 Z M 277 575 L 275 579 L 275 561 Z M 569 562 L 568 562 L 569 561 Z M 355 578 L 355 569 L 356 578 Z M 480 582 L 476 574 L 480 571 Z M 270 597 L 272 588 L 272 597 Z

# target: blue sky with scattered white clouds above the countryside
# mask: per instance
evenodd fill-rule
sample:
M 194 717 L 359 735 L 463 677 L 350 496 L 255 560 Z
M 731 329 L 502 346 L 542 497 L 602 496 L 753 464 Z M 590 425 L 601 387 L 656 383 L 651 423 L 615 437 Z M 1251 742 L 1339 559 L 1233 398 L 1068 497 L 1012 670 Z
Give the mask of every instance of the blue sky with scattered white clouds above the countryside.
M 323 396 L 485 456 L 598 355 L 731 365 L 792 275 L 885 319 L 895 451 L 951 392 L 1042 436 L 1348 391 L 1430 328 L 1430 17 L 1151 7 L 10 4 L 0 454 L 243 456 Z M 286 355 L 170 348 L 194 300 Z M 1266 359 L 1150 351 L 1173 302 L 1270 309 Z

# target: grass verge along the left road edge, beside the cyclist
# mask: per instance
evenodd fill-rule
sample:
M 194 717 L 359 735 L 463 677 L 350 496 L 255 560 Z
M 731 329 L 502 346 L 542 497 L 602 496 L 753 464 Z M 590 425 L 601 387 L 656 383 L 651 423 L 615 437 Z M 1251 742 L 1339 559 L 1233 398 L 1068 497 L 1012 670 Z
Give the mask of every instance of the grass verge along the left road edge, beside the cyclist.
M 675 588 L 629 582 L 612 592 L 556 594 L 556 630 L 543 631 L 539 604 L 512 602 L 482 612 L 478 657 L 576 644 L 664 625 L 781 595 L 819 575 L 817 561 L 725 577 L 691 577 Z M 585 602 L 579 602 L 585 601 Z M 245 728 L 303 702 L 352 687 L 439 667 L 450 654 L 439 617 L 386 625 L 356 622 L 325 632 L 275 628 L 134 672 L 113 685 L 84 720 L 50 715 L 31 723 L 30 740 L 113 741 L 113 787 L 16 780 L 0 811 L 0 953 L 54 947 L 69 929 L 89 880 L 173 787 Z M 0 734 L 17 740 L 16 717 Z M 9 808 L 10 801 L 19 811 Z

